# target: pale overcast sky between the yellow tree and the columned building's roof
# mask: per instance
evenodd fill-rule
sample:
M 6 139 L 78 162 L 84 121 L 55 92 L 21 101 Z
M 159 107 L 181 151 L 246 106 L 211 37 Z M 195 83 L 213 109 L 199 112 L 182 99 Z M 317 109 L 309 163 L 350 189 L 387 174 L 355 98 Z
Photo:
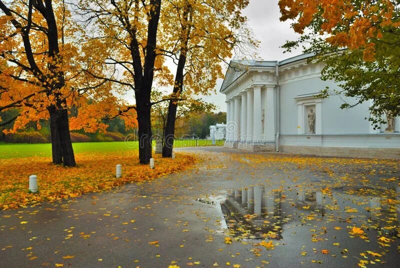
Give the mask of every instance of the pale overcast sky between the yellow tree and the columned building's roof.
M 279 21 L 278 0 L 250 0 L 243 14 L 247 16 L 255 38 L 261 42 L 258 54 L 263 60 L 283 60 L 301 53 L 300 50 L 283 53 L 280 48 L 286 40 L 297 39 L 298 35 L 290 28 L 290 22 Z M 225 95 L 219 93 L 221 83 L 222 79 L 217 83 L 215 95 L 204 99 L 216 104 L 217 111 L 226 111 Z

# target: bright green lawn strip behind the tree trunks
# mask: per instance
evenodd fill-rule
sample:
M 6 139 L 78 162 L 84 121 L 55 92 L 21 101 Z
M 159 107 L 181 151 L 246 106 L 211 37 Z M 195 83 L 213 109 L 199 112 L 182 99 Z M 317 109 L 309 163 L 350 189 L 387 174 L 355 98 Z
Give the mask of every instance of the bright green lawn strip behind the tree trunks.
M 153 141 L 155 146 L 155 141 Z M 216 145 L 222 145 L 223 140 L 216 140 Z M 191 147 L 196 145 L 194 139 L 177 139 L 173 142 L 174 147 Z M 197 146 L 210 146 L 211 140 L 199 139 Z M 137 141 L 113 141 L 113 142 L 77 142 L 73 143 L 75 153 L 92 151 L 124 151 L 137 149 Z M 30 156 L 51 156 L 50 143 L 25 144 L 25 143 L 1 143 L 0 159 L 18 158 Z

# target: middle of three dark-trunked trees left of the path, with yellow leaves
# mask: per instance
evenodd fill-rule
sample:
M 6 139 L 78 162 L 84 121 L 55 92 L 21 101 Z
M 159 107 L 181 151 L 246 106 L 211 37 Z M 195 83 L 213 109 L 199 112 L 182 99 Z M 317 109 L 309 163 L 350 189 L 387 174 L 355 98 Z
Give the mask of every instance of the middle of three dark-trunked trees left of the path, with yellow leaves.
M 103 48 L 92 56 L 109 75 L 101 76 L 88 68 L 85 72 L 134 91 L 136 104 L 119 112 L 136 110 L 139 162 L 143 164 L 151 158 L 150 96 L 154 71 L 162 65 L 156 61 L 160 9 L 161 0 L 81 0 L 78 7 L 86 21 L 93 23 L 88 47 L 101 43 Z

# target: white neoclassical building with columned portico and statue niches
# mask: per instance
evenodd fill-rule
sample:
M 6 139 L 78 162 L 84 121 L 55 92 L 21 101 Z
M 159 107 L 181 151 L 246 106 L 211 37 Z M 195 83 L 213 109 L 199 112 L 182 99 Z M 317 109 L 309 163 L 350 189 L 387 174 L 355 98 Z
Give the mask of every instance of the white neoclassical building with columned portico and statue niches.
M 280 62 L 230 62 L 220 89 L 226 95 L 225 145 L 319 155 L 400 157 L 400 118 L 394 118 L 390 126 L 373 129 L 365 119 L 371 102 L 340 109 L 343 96 L 318 97 L 326 86 L 337 85 L 320 79 L 323 63 L 307 63 L 309 56 Z

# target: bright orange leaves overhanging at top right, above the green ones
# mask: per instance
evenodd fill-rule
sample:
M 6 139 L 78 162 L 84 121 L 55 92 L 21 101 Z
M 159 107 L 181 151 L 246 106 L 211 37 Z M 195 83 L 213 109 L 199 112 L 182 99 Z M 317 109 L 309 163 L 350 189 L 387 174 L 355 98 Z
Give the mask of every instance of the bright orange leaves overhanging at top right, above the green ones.
M 369 0 L 279 0 L 280 20 L 293 19 L 294 31 L 302 34 L 316 17 L 320 18 L 320 35 L 338 47 L 364 48 L 364 60 L 375 58 L 375 38 L 382 38 L 382 29 L 398 27 L 394 1 Z

